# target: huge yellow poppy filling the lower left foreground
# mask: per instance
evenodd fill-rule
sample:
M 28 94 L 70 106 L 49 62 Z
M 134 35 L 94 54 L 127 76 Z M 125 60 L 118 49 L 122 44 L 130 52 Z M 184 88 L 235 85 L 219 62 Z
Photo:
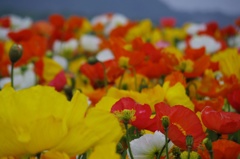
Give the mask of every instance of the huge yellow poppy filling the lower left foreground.
M 87 110 L 87 98 L 79 92 L 69 102 L 48 86 L 20 91 L 5 87 L 0 100 L 0 157 L 44 150 L 73 156 L 122 136 L 115 116 L 96 108 Z

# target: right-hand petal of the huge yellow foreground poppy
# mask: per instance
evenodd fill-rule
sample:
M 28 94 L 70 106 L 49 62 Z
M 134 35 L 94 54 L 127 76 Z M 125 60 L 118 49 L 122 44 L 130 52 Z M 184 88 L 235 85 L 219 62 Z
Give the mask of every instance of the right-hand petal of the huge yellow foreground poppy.
M 118 142 L 122 136 L 116 117 L 106 111 L 91 108 L 86 118 L 71 128 L 68 135 L 54 148 L 70 156 L 82 154 L 97 144 Z

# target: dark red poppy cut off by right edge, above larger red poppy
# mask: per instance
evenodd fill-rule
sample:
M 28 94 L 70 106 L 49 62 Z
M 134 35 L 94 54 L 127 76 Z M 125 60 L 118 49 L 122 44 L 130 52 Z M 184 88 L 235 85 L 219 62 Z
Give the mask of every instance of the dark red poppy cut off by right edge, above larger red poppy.
M 240 89 L 235 90 L 227 95 L 228 102 L 231 106 L 240 113 Z

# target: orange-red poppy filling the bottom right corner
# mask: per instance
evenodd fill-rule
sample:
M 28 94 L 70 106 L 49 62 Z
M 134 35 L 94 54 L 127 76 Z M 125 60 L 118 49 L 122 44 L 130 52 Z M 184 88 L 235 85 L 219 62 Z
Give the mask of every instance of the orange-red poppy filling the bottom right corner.
M 219 139 L 212 143 L 212 150 L 213 158 L 216 159 L 238 158 L 240 155 L 240 144 L 231 140 Z M 198 153 L 202 159 L 210 159 L 206 149 L 199 149 Z

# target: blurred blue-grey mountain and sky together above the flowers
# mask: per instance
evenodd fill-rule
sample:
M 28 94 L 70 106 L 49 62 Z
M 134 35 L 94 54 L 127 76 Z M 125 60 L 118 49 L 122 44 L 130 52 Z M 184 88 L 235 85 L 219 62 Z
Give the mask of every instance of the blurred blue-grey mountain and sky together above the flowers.
M 1 0 L 0 16 L 17 14 L 38 20 L 53 13 L 87 18 L 121 13 L 131 20 L 149 18 L 156 25 L 162 17 L 175 17 L 178 26 L 213 20 L 226 26 L 240 16 L 239 6 L 240 0 Z

